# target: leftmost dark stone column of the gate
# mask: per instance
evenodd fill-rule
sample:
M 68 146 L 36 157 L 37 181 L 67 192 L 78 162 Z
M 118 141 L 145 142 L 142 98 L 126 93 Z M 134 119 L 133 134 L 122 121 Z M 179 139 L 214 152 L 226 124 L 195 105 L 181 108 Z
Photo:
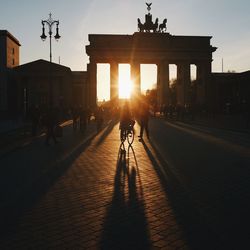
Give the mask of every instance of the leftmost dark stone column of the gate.
M 96 62 L 90 62 L 88 64 L 88 89 L 89 89 L 89 107 L 91 109 L 96 108 L 97 105 L 97 65 Z

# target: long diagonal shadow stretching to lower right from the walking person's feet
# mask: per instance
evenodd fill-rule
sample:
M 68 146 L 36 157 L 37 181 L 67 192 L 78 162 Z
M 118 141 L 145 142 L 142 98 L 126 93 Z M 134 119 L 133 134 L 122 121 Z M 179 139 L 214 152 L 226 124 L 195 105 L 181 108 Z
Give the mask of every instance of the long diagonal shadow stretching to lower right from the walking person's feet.
M 144 149 L 154 166 L 165 195 L 170 200 L 177 222 L 184 231 L 188 247 L 190 249 L 221 250 L 222 244 L 219 237 L 207 227 L 199 212 L 194 209 L 192 197 L 187 190 L 180 185 L 175 175 L 168 169 L 160 154 L 151 145 L 142 141 Z

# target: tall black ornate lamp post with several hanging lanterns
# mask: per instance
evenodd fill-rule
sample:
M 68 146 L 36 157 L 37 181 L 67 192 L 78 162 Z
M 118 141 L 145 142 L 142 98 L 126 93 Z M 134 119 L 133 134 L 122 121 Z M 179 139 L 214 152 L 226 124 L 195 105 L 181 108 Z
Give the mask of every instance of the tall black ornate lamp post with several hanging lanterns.
M 49 34 L 49 57 L 50 57 L 50 63 L 52 62 L 52 52 L 51 52 L 51 36 L 53 34 L 52 28 L 53 26 L 56 24 L 56 35 L 54 36 L 54 38 L 56 39 L 56 41 L 58 41 L 60 39 L 60 35 L 59 35 L 59 20 L 53 20 L 52 19 L 52 14 L 49 13 L 49 18 L 47 20 L 42 20 L 42 35 L 40 36 L 41 39 L 43 41 L 46 40 L 47 36 L 45 35 L 45 24 L 47 24 L 48 26 L 48 34 Z M 50 107 L 52 106 L 52 84 L 51 84 L 51 68 L 49 67 L 49 104 Z

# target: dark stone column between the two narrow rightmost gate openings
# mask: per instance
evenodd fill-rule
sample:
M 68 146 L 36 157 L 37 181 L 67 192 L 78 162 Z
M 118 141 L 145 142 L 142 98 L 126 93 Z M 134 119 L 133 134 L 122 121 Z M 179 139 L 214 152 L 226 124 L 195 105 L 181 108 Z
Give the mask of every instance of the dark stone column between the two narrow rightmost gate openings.
M 177 65 L 177 104 L 185 106 L 189 103 L 190 87 L 190 64 L 187 62 L 178 63 Z

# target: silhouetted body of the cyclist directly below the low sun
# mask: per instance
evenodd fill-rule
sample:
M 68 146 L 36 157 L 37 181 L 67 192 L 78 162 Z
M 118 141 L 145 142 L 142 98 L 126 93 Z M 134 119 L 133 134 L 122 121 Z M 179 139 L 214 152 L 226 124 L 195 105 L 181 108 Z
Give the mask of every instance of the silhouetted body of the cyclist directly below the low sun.
M 121 113 L 120 113 L 120 135 L 121 138 L 125 131 L 132 130 L 134 127 L 135 121 L 133 119 L 129 103 L 125 102 L 124 106 L 122 107 Z

